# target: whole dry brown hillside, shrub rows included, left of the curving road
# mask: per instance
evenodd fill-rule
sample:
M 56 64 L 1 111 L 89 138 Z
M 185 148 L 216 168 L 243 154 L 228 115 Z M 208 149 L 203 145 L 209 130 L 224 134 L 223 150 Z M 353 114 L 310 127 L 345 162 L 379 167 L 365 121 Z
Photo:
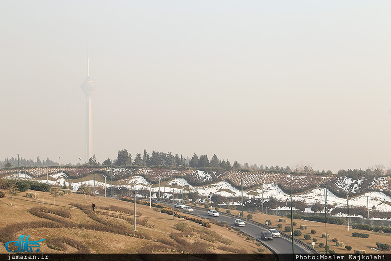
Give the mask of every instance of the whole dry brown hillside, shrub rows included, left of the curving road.
M 9 195 L 0 199 L 0 253 L 7 253 L 5 243 L 19 235 L 45 239 L 41 253 L 259 253 L 256 241 L 234 230 L 173 220 L 149 205 L 136 204 L 134 231 L 133 203 L 93 196 L 85 201 L 84 195 L 65 194 L 56 197 L 53 205 L 53 196 L 46 193 L 43 205 L 43 192 L 36 193 L 39 199 L 21 192 L 14 196 L 12 206 Z

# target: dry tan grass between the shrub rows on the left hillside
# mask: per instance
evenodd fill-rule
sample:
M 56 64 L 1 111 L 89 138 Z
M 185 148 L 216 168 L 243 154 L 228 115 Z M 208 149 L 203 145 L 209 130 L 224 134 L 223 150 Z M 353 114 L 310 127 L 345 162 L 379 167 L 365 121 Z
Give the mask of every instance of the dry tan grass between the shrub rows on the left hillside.
M 34 191 L 28 191 L 28 192 L 34 192 Z M 14 196 L 13 206 L 10 206 L 11 199 L 6 195 L 5 198 L 0 199 L 0 213 L 1 215 L 1 223 L 0 223 L 0 232 L 7 226 L 15 224 L 15 223 L 26 223 L 31 221 L 49 221 L 45 218 L 37 217 L 29 212 L 30 209 L 37 208 L 42 206 L 42 194 L 40 194 L 40 198 L 38 200 L 27 198 L 25 196 L 25 193 L 21 193 L 19 196 Z M 93 220 L 90 218 L 84 211 L 82 211 L 79 208 L 76 208 L 71 205 L 71 203 L 78 203 L 85 205 L 87 208 L 92 205 L 92 202 L 96 205 L 96 213 L 98 214 L 100 211 L 109 212 L 110 214 L 118 214 L 118 212 L 114 211 L 108 211 L 108 210 L 102 210 L 100 209 L 100 206 L 117 206 L 119 208 L 125 208 L 129 211 L 133 211 L 134 205 L 133 203 L 129 205 L 126 201 L 120 201 L 116 199 L 111 198 L 100 198 L 100 203 L 98 203 L 98 198 L 95 198 L 93 196 L 86 198 L 86 202 L 84 202 L 84 195 L 81 194 L 71 194 L 71 195 L 65 195 L 63 197 L 57 197 L 56 198 L 56 206 L 53 206 L 53 197 L 50 196 L 48 193 L 44 197 L 45 206 L 49 206 L 49 208 L 67 208 L 71 211 L 71 218 L 63 218 L 56 214 L 52 213 L 45 213 L 47 215 L 50 215 L 50 217 L 58 218 L 59 222 L 65 222 L 64 220 L 69 220 L 70 222 L 77 223 L 77 224 L 87 224 L 86 227 L 94 227 L 94 226 L 100 226 L 103 224 L 99 223 L 100 220 Z M 226 244 L 223 244 L 221 242 L 218 242 L 216 240 L 215 243 L 207 242 L 199 235 L 197 237 L 184 237 L 184 239 L 189 242 L 190 245 L 193 245 L 194 250 L 197 249 L 206 249 L 206 252 L 210 253 L 230 253 L 232 251 L 242 251 L 243 249 L 247 253 L 258 253 L 257 246 L 253 241 L 246 240 L 245 237 L 239 236 L 236 234 L 233 230 L 228 230 L 227 228 L 219 227 L 217 225 L 213 225 L 212 228 L 206 229 L 204 227 L 199 226 L 198 224 L 195 224 L 194 222 L 184 220 L 181 218 L 175 218 L 175 220 L 172 220 L 171 215 L 163 214 L 157 211 L 154 211 L 154 209 L 150 209 L 149 206 L 143 206 L 143 205 L 136 205 L 137 212 L 142 213 L 142 219 L 147 219 L 149 224 L 154 225 L 154 228 L 150 227 L 144 227 L 137 225 L 137 231 L 143 234 L 148 235 L 151 240 L 147 239 L 139 239 L 134 238 L 126 235 L 120 235 L 117 233 L 110 233 L 105 231 L 94 231 L 89 229 L 81 229 L 79 227 L 75 228 L 65 228 L 58 227 L 58 228 L 46 228 L 46 227 L 39 227 L 39 228 L 28 228 L 21 231 L 18 231 L 16 233 L 17 236 L 19 235 L 31 235 L 31 240 L 40 240 L 40 239 L 46 239 L 41 243 L 40 252 L 42 253 L 77 253 L 78 249 L 75 247 L 72 247 L 71 245 L 66 245 L 66 250 L 59 251 L 52 248 L 49 248 L 47 246 L 48 240 L 54 240 L 59 237 L 67 237 L 70 239 L 74 239 L 75 242 L 79 242 L 83 245 L 85 245 L 88 249 L 90 249 L 91 253 L 138 253 L 140 249 L 148 246 L 148 245 L 156 245 L 160 244 L 163 246 L 167 246 L 166 243 L 168 242 L 174 242 L 173 239 L 170 238 L 170 234 L 174 231 L 174 233 L 180 233 L 179 230 L 176 230 L 174 228 L 175 224 L 178 223 L 186 223 L 189 225 L 195 226 L 197 229 L 205 229 L 206 231 L 214 231 L 214 233 L 211 233 L 210 237 L 215 237 L 216 235 L 219 235 L 221 238 L 226 238 L 232 241 L 232 244 L 227 246 Z M 91 208 L 92 210 L 92 208 Z M 122 218 L 114 218 L 104 215 L 101 216 L 106 223 L 106 225 L 109 225 L 110 222 L 114 226 L 121 226 L 126 229 L 132 230 L 133 225 L 131 225 L 126 220 L 123 220 Z M 121 213 L 121 216 L 125 216 L 128 218 L 132 218 L 132 215 Z M 49 221 L 52 222 L 52 221 Z M 103 221 L 102 221 L 103 222 Z M 157 241 L 157 242 L 156 242 Z M 220 239 L 221 241 L 221 239 Z M 177 246 L 177 245 L 176 245 Z M 174 247 L 174 246 L 171 246 Z M 209 249 L 208 249 L 209 247 Z M 146 248 L 144 248 L 147 250 Z M 199 250 L 197 250 L 199 251 Z M 7 253 L 4 247 L 4 243 L 0 243 L 0 253 Z

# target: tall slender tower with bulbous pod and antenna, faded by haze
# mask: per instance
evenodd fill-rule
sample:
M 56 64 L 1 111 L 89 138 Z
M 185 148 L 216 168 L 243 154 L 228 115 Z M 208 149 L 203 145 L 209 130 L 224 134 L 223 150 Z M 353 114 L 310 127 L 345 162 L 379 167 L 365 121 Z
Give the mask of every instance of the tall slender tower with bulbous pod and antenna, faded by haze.
M 92 94 L 96 89 L 96 84 L 89 77 L 89 53 L 87 54 L 88 74 L 87 78 L 80 85 L 80 88 L 86 95 L 86 151 L 85 151 L 85 162 L 92 157 Z

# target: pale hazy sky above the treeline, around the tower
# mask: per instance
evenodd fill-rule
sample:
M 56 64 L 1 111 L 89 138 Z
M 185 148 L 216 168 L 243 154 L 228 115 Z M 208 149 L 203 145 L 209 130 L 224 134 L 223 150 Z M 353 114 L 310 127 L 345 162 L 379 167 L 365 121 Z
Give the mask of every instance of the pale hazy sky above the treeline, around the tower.
M 391 1 L 0 0 L 0 159 L 391 160 Z

